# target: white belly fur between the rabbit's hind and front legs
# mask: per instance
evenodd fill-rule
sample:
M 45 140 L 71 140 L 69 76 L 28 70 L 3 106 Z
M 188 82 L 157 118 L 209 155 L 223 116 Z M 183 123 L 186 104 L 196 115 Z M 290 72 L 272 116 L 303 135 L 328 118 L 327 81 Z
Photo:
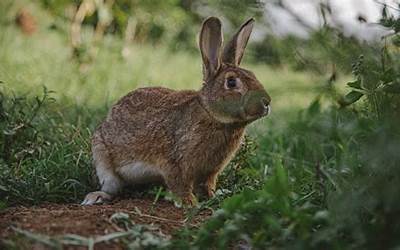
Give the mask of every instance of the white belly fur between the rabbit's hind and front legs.
M 159 168 L 137 161 L 120 167 L 118 170 L 122 179 L 130 184 L 143 184 L 162 180 Z

